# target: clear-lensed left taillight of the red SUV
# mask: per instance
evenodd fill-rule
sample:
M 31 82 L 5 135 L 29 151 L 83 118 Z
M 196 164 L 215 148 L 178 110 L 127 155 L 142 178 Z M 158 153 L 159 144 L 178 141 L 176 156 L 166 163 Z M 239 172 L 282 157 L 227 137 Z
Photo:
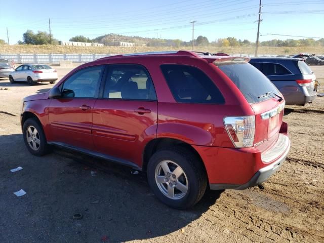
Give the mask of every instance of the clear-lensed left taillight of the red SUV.
M 226 131 L 236 148 L 253 146 L 255 116 L 228 116 L 224 118 Z

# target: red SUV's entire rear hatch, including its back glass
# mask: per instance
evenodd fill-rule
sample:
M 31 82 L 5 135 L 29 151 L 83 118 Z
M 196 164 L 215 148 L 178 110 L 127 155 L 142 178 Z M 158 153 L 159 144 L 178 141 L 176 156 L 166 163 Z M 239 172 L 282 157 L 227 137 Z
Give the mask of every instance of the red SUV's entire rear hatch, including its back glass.
M 285 101 L 271 81 L 244 61 L 215 62 L 240 90 L 255 112 L 254 147 L 261 152 L 277 140 Z

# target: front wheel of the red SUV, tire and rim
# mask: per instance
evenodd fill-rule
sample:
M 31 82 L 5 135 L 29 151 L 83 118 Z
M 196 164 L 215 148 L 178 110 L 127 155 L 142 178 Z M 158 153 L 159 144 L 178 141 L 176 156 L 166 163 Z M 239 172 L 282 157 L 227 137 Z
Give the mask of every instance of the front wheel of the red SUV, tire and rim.
M 30 153 L 36 156 L 42 156 L 48 153 L 49 145 L 42 125 L 36 118 L 29 118 L 25 121 L 23 128 L 24 142 Z

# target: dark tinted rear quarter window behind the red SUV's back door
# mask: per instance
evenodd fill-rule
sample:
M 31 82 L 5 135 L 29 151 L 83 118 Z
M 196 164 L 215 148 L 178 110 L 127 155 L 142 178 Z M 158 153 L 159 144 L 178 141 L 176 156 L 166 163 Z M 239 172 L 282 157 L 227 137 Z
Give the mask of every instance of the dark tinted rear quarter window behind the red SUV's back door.
M 186 65 L 161 65 L 174 99 L 180 103 L 224 103 L 224 97 L 201 70 Z

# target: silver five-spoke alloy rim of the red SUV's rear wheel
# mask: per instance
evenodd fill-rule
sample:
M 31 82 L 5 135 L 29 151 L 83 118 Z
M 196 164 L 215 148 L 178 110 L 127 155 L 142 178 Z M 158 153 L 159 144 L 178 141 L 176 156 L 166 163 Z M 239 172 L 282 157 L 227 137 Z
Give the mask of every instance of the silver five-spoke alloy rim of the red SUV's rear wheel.
M 158 189 L 171 199 L 181 199 L 188 192 L 188 179 L 183 169 L 174 161 L 163 160 L 155 168 Z

